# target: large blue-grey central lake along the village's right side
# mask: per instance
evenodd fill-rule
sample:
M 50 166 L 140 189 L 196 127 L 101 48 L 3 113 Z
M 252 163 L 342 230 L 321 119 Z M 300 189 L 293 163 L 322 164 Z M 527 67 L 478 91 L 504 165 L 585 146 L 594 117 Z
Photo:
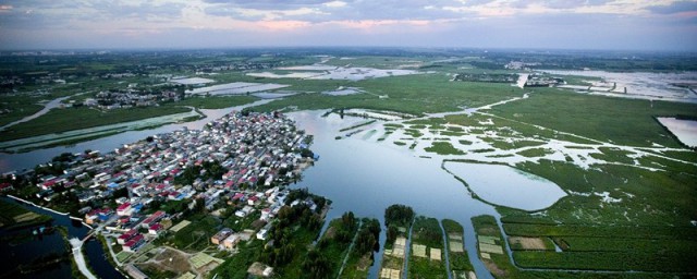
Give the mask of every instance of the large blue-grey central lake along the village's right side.
M 499 216 L 490 205 L 469 196 L 466 187 L 440 168 L 440 161 L 423 159 L 414 153 L 370 140 L 334 136 L 357 118 L 337 114 L 321 118 L 322 112 L 291 113 L 301 129 L 315 136 L 313 150 L 321 156 L 303 173 L 297 187 L 333 201 L 328 219 L 344 211 L 383 221 L 384 208 L 392 204 L 409 205 L 420 215 L 454 219 L 465 227 L 465 246 L 479 278 L 490 278 L 476 253 L 470 218 L 488 214 Z M 375 140 L 374 140 L 375 141 Z M 384 244 L 384 228 L 380 239 Z M 370 277 L 377 277 L 382 252 L 376 256 Z

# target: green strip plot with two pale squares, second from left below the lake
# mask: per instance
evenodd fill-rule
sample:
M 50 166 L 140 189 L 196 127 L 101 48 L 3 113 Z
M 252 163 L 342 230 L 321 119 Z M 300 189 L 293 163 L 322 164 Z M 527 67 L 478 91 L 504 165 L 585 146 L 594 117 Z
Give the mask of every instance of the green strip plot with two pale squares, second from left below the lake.
M 411 251 L 407 278 L 448 278 L 443 232 L 437 219 L 416 218 Z

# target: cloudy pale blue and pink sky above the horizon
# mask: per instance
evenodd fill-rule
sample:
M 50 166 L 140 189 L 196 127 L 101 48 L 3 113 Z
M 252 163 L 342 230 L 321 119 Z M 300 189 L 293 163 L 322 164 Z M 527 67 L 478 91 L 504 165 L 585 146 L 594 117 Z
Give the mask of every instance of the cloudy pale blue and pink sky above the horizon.
M 0 0 L 0 49 L 697 51 L 697 0 Z

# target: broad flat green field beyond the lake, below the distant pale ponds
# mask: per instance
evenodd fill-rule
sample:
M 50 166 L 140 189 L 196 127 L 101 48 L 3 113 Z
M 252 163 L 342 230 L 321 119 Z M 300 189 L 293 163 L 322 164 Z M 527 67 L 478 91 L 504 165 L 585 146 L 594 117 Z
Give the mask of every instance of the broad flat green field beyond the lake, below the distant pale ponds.
M 456 111 L 461 106 L 482 106 L 519 96 L 522 93 L 521 89 L 513 88 L 508 84 L 453 83 L 448 80 L 448 76 L 441 74 L 391 76 L 357 82 L 290 78 L 273 81 L 291 84 L 292 86 L 286 89 L 314 93 L 298 94 L 276 100 L 258 107 L 260 110 L 271 111 L 296 106 L 301 110 L 364 108 L 421 114 Z M 319 94 L 319 92 L 333 89 L 338 86 L 360 87 L 371 94 L 389 95 L 389 98 L 380 99 L 371 94 L 348 96 Z

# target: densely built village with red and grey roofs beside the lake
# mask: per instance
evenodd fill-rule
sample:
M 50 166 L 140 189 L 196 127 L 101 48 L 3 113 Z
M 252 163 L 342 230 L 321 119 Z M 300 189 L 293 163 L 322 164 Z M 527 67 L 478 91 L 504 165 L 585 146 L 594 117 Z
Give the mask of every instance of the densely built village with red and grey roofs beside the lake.
M 196 227 L 192 225 L 196 220 L 185 218 L 187 213 L 227 220 L 207 228 L 209 235 L 184 243 L 188 252 L 196 251 L 192 245 L 212 245 L 218 251 L 210 252 L 217 254 L 234 252 L 241 241 L 266 240 L 285 205 L 302 203 L 319 210 L 311 198 L 289 201 L 290 190 L 285 189 L 313 163 L 315 156 L 307 149 L 310 142 L 311 136 L 296 130 L 282 113 L 233 111 L 201 131 L 158 134 L 108 154 L 63 155 L 62 163 L 70 166 L 63 174 L 37 173 L 37 197 L 51 201 L 74 195 L 84 222 L 106 238 L 113 263 L 132 278 L 148 278 L 135 264 L 147 262 L 143 255 L 148 252 L 156 257 L 152 251 L 179 251 L 173 247 L 178 232 Z M 229 223 L 233 228 L 224 226 Z M 169 239 L 160 238 L 163 234 Z M 205 253 L 193 254 L 187 265 L 191 272 L 176 275 L 203 278 L 223 262 Z M 149 266 L 157 272 L 157 267 Z M 272 274 L 271 267 L 261 267 L 260 275 Z M 167 271 L 168 267 L 161 268 Z

